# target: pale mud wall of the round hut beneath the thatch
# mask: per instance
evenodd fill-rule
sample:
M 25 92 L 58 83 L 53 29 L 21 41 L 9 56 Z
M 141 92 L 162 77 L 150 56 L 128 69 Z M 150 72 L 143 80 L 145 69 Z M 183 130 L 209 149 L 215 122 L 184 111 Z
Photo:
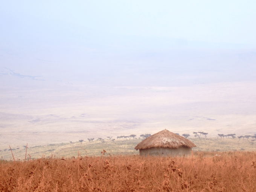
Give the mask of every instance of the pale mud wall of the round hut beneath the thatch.
M 177 149 L 171 149 L 171 148 L 149 148 L 149 149 L 140 149 L 140 155 L 142 156 L 189 156 L 191 155 L 191 148 L 177 148 Z

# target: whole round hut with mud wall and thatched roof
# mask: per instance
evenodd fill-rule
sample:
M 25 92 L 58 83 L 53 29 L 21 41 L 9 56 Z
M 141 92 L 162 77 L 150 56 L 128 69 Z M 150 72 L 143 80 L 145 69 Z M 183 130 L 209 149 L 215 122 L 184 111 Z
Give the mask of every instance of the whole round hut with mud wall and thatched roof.
M 196 145 L 185 137 L 168 130 L 155 133 L 140 142 L 135 149 L 140 155 L 187 156 Z

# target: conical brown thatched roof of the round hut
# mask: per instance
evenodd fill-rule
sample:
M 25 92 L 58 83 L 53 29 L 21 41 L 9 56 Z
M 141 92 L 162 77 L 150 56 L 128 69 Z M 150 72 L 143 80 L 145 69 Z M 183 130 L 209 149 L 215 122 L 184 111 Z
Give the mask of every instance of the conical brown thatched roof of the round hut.
M 195 146 L 194 143 L 185 137 L 181 137 L 168 130 L 163 130 L 144 139 L 135 147 L 135 149 L 148 149 L 152 147 L 177 149 L 180 147 L 192 148 Z

